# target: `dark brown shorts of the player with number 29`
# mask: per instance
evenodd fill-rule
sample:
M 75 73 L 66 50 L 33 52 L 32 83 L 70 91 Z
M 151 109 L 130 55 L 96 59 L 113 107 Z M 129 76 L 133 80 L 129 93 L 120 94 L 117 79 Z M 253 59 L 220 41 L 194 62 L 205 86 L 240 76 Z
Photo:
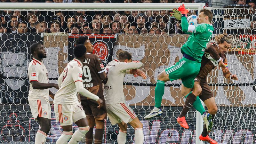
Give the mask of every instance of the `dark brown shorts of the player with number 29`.
M 95 120 L 107 119 L 105 99 L 104 97 L 101 97 L 100 99 L 103 100 L 103 107 L 100 109 L 97 108 L 99 104 L 95 100 L 81 100 L 81 105 L 83 106 L 87 119 L 89 119 L 90 116 L 93 116 Z

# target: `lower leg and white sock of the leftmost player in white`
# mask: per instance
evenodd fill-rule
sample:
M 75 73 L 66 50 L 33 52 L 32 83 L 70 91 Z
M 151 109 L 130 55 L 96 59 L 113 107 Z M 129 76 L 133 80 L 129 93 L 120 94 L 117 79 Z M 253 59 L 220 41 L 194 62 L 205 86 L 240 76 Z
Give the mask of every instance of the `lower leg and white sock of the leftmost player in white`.
M 51 129 L 51 120 L 44 117 L 37 117 L 36 120 L 38 121 L 40 127 L 36 132 L 35 144 L 44 144 L 47 138 L 47 134 Z

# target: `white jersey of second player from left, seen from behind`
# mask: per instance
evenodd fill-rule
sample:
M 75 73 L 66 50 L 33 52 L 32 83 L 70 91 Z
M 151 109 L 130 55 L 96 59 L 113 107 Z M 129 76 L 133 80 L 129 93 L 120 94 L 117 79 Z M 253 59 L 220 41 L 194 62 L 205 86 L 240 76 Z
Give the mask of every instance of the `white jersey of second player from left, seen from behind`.
M 64 68 L 63 78 L 60 85 L 60 89 L 56 92 L 53 102 L 56 104 L 75 104 L 77 103 L 77 90 L 76 81 L 83 81 L 82 62 L 74 58 L 68 62 L 66 68 Z M 59 81 L 59 80 L 58 80 Z

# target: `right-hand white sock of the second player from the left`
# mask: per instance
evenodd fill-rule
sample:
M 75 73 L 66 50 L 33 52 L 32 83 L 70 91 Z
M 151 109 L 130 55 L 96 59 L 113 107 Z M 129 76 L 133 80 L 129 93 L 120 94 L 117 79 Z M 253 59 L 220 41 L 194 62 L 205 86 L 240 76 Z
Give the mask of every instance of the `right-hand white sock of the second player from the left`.
M 72 138 L 69 140 L 68 144 L 77 144 L 78 141 L 81 141 L 85 134 L 89 131 L 90 127 L 79 127 L 79 129 L 73 134 Z

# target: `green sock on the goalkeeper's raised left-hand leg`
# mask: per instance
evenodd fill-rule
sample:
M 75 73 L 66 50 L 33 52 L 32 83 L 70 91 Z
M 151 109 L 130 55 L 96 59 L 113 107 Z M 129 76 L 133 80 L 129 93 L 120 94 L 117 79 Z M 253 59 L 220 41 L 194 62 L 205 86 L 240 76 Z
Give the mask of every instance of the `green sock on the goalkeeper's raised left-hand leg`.
M 155 107 L 161 107 L 162 98 L 164 95 L 164 81 L 157 80 L 155 88 Z

